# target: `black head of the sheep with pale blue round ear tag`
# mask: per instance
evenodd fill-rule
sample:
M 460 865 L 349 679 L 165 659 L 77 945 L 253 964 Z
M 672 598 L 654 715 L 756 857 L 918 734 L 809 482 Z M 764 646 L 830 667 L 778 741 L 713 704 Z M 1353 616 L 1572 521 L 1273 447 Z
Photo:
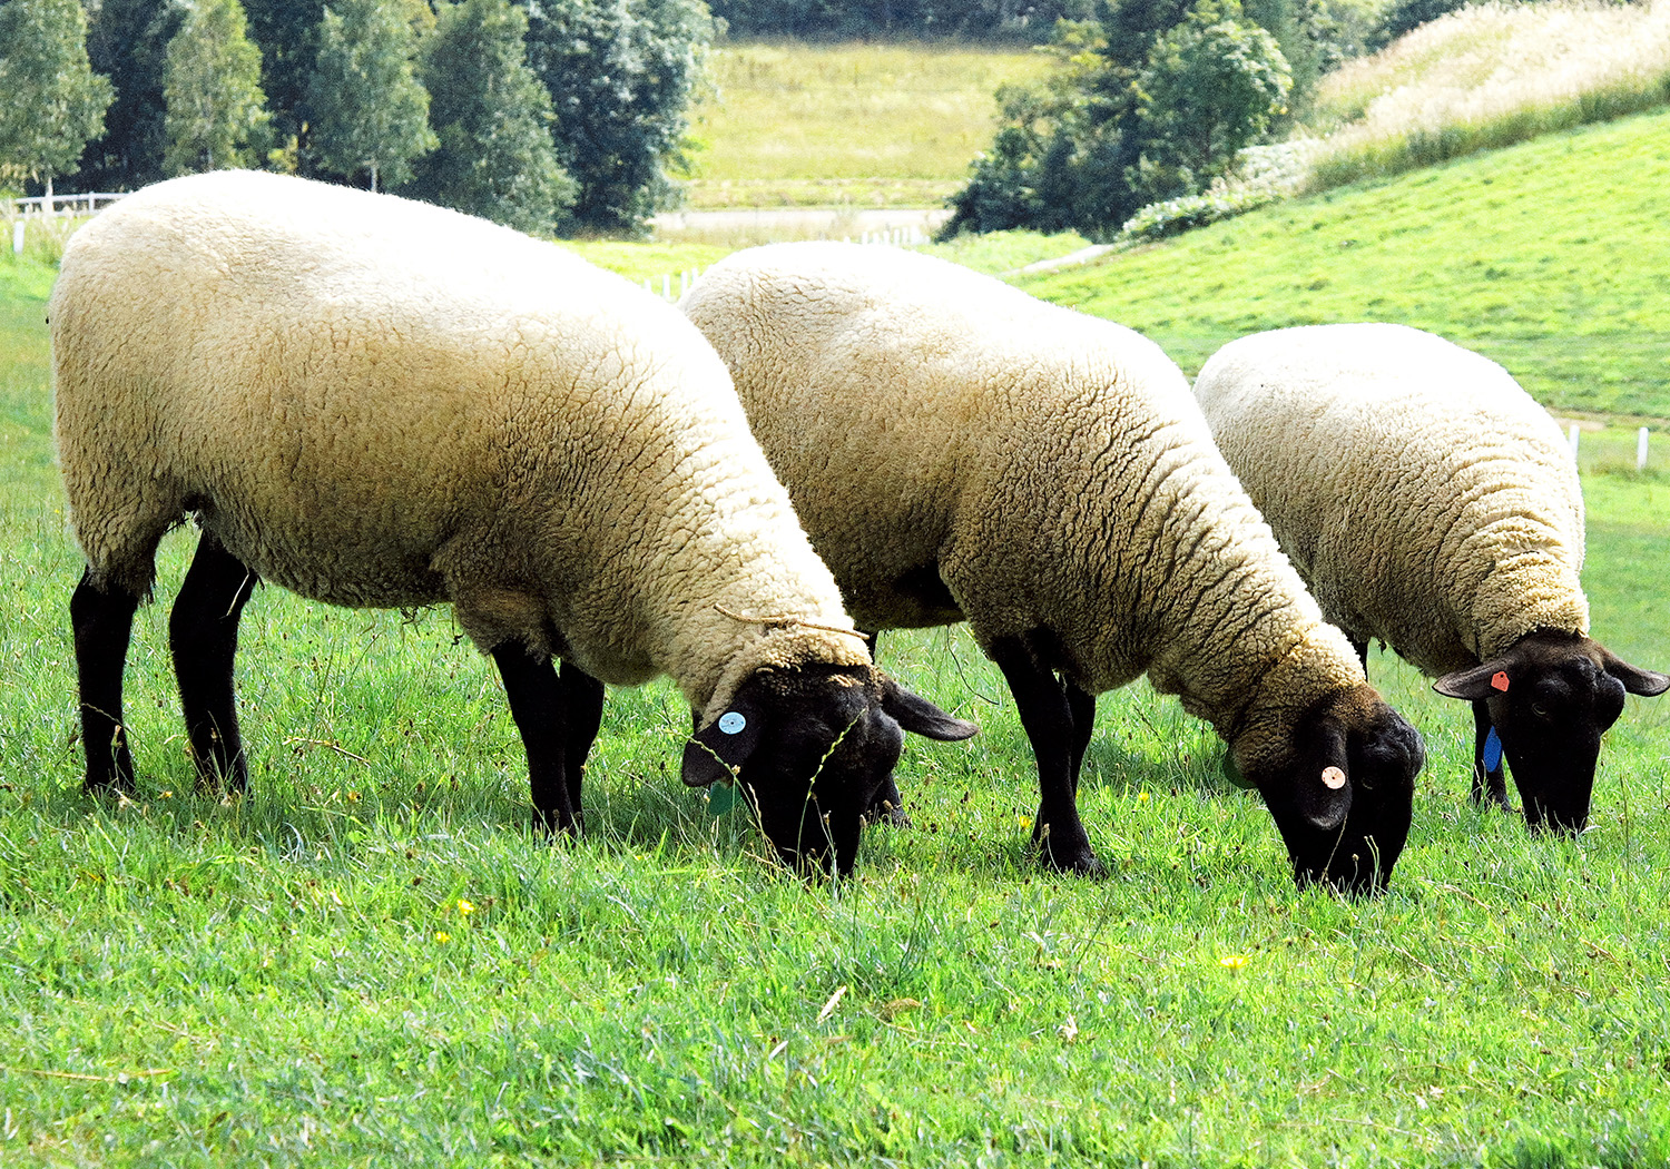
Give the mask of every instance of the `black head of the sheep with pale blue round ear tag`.
M 760 670 L 685 746 L 685 783 L 736 777 L 760 828 L 792 867 L 852 872 L 858 827 L 893 772 L 903 731 L 959 740 L 952 718 L 872 666 Z

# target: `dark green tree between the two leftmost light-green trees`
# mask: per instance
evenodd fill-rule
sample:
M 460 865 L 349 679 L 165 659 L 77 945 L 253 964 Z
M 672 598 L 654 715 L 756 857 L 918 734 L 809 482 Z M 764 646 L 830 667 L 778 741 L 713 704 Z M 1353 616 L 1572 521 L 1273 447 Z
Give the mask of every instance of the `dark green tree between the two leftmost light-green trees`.
M 104 134 L 87 144 L 82 190 L 132 190 L 162 179 L 169 42 L 185 22 L 179 0 L 102 0 L 90 15 L 87 58 L 115 87 Z

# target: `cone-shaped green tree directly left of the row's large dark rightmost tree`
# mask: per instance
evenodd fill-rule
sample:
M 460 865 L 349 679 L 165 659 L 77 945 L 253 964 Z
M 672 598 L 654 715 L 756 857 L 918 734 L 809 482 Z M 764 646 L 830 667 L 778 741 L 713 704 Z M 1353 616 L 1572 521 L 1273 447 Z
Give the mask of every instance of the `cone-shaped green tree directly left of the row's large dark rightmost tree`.
M 419 58 L 439 145 L 402 194 L 526 232 L 563 225 L 576 187 L 556 162 L 551 95 L 528 67 L 526 33 L 509 0 L 441 5 Z

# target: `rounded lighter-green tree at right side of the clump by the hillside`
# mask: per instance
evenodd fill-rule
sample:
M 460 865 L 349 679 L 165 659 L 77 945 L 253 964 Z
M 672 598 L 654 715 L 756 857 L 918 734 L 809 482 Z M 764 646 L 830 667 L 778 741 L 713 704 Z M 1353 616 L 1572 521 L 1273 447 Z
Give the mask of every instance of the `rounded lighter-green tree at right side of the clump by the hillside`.
M 1137 75 L 1126 185 L 1142 204 L 1204 190 L 1288 112 L 1293 75 L 1276 38 L 1241 23 L 1237 0 L 1201 0 Z

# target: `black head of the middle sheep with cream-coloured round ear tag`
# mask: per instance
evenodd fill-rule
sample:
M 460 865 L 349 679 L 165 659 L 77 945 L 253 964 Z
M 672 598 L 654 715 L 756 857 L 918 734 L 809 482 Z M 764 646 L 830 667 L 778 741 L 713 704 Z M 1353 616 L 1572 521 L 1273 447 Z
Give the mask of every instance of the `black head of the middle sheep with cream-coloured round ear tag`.
M 1368 685 L 1299 718 L 1286 762 L 1246 778 L 1264 795 L 1299 887 L 1378 893 L 1409 835 L 1421 736 Z

